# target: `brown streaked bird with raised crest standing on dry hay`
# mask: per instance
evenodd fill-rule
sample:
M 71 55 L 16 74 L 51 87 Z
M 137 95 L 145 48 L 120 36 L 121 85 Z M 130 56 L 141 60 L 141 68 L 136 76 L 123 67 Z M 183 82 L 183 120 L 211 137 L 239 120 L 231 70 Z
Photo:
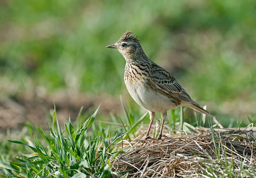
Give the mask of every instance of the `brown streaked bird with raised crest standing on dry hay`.
M 106 48 L 118 50 L 123 55 L 126 61 L 125 86 L 135 102 L 148 110 L 151 121 L 146 139 L 150 138 L 149 133 L 156 112 L 160 112 L 162 118 L 161 130 L 156 140 L 161 140 L 164 120 L 169 109 L 187 106 L 197 112 L 210 115 L 210 112 L 189 97 L 189 94 L 171 73 L 146 56 L 138 36 L 132 34 L 132 31 L 126 31 L 116 43 L 108 45 Z

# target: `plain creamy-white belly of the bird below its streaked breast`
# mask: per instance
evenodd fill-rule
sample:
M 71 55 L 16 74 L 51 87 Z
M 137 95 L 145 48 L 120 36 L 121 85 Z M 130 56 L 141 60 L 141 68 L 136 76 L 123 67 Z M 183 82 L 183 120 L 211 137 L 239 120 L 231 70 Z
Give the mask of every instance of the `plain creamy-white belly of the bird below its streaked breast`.
M 148 84 L 138 81 L 137 83 L 125 82 L 131 97 L 144 109 L 152 112 L 164 112 L 168 109 L 175 109 L 178 106 L 172 99 L 162 95 L 148 87 Z

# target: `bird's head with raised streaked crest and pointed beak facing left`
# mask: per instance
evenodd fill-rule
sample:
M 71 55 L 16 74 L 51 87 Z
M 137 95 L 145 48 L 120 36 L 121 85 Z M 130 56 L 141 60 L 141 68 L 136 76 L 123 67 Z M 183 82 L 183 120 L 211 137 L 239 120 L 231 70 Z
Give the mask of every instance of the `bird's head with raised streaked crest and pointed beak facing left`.
M 141 45 L 137 36 L 131 36 L 132 33 L 131 31 L 126 31 L 115 44 L 108 45 L 106 48 L 118 50 L 124 58 L 133 56 L 138 48 L 141 48 Z

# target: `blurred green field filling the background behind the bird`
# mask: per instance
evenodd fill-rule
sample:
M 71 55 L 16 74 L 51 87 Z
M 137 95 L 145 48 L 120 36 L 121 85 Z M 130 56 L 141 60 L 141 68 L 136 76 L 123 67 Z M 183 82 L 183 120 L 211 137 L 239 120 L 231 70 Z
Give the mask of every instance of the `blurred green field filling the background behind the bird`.
M 122 95 L 142 113 L 123 82 L 124 58 L 105 48 L 127 30 L 225 126 L 255 118 L 255 0 L 1 0 L 1 96 L 20 106 L 52 93 L 101 96 L 90 100 L 96 108 Z

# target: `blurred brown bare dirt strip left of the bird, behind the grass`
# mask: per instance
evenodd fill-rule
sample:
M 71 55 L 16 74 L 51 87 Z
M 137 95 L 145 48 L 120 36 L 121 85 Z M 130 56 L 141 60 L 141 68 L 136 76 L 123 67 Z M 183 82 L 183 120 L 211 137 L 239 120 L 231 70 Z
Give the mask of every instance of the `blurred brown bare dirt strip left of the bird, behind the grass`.
M 49 115 L 54 109 L 54 100 L 60 122 L 66 121 L 69 114 L 73 121 L 76 120 L 81 107 L 83 107 L 83 112 L 89 111 L 88 114 L 90 114 L 101 104 L 100 114 L 106 115 L 122 109 L 118 97 L 107 94 L 92 96 L 82 93 L 57 92 L 48 94 L 44 98 L 33 97 L 33 99 L 23 96 L 9 98 L 0 95 L 0 138 L 6 135 L 7 130 L 17 133 L 17 130 L 22 129 L 27 122 L 39 124 L 44 129 L 47 128 L 50 122 Z

